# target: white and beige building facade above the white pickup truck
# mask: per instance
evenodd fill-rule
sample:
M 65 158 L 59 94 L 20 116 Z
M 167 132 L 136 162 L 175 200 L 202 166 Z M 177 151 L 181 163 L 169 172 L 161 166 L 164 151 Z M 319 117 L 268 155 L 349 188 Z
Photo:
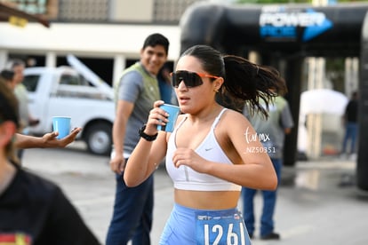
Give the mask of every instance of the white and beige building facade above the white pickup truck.
M 106 83 L 140 58 L 141 43 L 160 32 L 170 40 L 169 60 L 180 55 L 181 15 L 198 0 L 5 0 L 24 12 L 43 16 L 51 27 L 0 23 L 0 68 L 8 59 L 30 65 L 68 65 L 71 53 Z

